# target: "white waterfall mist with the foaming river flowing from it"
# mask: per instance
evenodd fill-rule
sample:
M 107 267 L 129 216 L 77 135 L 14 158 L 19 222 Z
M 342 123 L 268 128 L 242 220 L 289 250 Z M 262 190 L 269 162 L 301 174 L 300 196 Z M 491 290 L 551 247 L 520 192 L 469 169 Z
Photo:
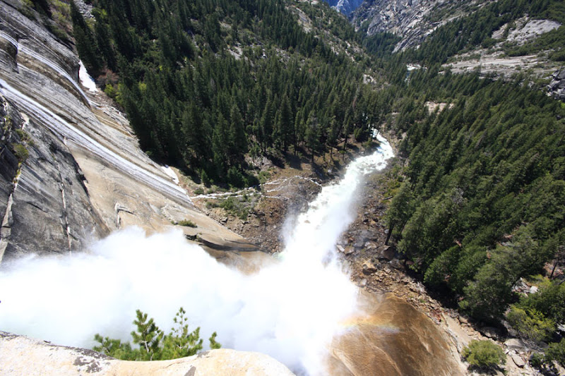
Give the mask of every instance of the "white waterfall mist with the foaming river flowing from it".
M 393 156 L 377 138 L 377 152 L 352 162 L 307 212 L 289 219 L 275 265 L 244 275 L 187 243 L 181 231 L 145 236 L 130 228 L 85 253 L 4 265 L 0 330 L 90 347 L 96 333 L 129 340 L 138 308 L 168 332 L 182 306 L 205 342 L 216 331 L 223 347 L 268 353 L 295 372 L 319 374 L 340 322 L 357 310 L 357 288 L 334 250 L 355 217 L 363 176 Z

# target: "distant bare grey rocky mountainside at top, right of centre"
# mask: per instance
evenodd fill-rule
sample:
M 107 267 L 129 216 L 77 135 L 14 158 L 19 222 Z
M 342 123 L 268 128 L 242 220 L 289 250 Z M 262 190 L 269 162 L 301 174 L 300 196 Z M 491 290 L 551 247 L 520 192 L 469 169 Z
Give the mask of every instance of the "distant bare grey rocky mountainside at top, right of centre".
M 460 7 L 482 0 L 368 0 L 352 14 L 356 28 L 368 21 L 367 35 L 392 32 L 402 38 L 395 51 L 419 45 L 444 23 L 463 14 Z

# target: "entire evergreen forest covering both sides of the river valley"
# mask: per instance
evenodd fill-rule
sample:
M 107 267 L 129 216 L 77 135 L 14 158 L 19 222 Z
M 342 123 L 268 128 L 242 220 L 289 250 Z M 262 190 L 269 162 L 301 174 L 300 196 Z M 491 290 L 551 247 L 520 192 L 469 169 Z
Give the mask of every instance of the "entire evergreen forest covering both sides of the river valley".
M 492 2 L 398 55 L 394 35 L 361 37 L 323 3 L 292 4 L 93 0 L 95 22 L 73 6 L 74 36 L 143 149 L 204 183 L 256 183 L 249 154 L 313 160 L 344 150 L 350 137 L 367 140 L 373 126 L 396 134 L 408 162 L 393 170 L 387 241 L 460 310 L 551 343 L 538 365 L 565 363 L 562 279 L 535 277 L 540 292 L 528 298 L 513 291 L 519 279 L 565 259 L 565 105 L 526 75 L 494 80 L 439 65 L 489 47 L 492 31 L 526 13 L 563 23 L 564 3 Z M 505 48 L 552 49 L 549 57 L 561 61 L 563 32 Z M 357 43 L 373 58 L 340 48 Z M 416 61 L 424 68 L 408 73 L 406 63 Z M 364 83 L 367 74 L 376 83 Z M 446 107 L 429 111 L 430 102 Z

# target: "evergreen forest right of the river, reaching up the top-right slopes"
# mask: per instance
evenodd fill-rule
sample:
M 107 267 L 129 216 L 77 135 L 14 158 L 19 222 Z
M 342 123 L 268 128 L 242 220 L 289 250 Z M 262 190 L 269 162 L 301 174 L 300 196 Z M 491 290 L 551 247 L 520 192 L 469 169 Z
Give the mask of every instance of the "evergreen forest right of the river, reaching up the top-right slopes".
M 565 5 L 496 1 L 398 55 L 387 53 L 393 35 L 363 43 L 387 67 L 386 90 L 396 93 L 387 128 L 404 135 L 399 152 L 408 160 L 396 169 L 388 236 L 424 283 L 461 311 L 492 325 L 506 320 L 532 344 L 549 342 L 532 363 L 550 368 L 552 360 L 565 364 L 565 284 L 554 274 L 565 262 L 565 104 L 527 74 L 494 80 L 439 65 L 488 48 L 492 31 L 525 14 L 563 23 Z M 560 61 L 564 41 L 561 26 L 504 49 L 510 56 L 549 50 L 549 59 Z M 413 62 L 424 68 L 405 73 Z M 427 107 L 439 102 L 443 111 Z M 521 279 L 540 291 L 521 296 Z

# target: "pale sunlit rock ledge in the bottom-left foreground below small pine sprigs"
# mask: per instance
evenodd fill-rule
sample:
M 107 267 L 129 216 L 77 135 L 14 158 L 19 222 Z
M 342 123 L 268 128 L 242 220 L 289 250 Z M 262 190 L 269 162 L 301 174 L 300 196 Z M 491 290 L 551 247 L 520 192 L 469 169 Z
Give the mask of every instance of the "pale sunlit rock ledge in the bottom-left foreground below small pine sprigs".
M 0 375 L 294 375 L 262 353 L 225 348 L 155 362 L 117 360 L 85 348 L 0 332 Z

